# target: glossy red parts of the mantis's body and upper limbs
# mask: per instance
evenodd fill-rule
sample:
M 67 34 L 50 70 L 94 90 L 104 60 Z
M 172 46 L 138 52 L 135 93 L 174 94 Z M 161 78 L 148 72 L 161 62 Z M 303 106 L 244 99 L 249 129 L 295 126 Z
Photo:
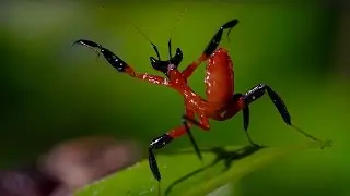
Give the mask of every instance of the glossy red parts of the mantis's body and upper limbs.
M 205 61 L 208 61 L 205 78 L 207 99 L 201 98 L 187 85 L 188 77 Z M 236 114 L 244 107 L 243 99 L 232 99 L 234 94 L 233 62 L 225 49 L 219 48 L 209 57 L 202 54 L 183 72 L 174 66 L 170 68 L 172 69 L 168 70 L 168 78 L 150 74 L 138 74 L 131 66 L 128 66 L 126 72 L 133 77 L 168 86 L 177 90 L 184 96 L 186 117 L 195 120 L 197 114 L 198 121 L 196 121 L 196 125 L 205 131 L 208 131 L 210 127 L 209 119 L 224 121 Z M 173 138 L 183 136 L 184 134 L 186 134 L 184 125 L 168 132 L 168 135 Z

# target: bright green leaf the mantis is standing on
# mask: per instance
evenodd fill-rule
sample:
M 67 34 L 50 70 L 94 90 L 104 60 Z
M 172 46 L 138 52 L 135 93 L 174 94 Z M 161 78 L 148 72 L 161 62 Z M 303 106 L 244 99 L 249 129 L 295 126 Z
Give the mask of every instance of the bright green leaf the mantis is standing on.
M 75 196 L 161 195 L 202 196 L 278 161 L 282 157 L 312 148 L 330 146 L 330 142 L 308 142 L 287 147 L 218 147 L 202 149 L 202 164 L 192 150 L 159 155 L 162 173 L 159 184 L 148 160 L 142 160 L 116 174 L 104 177 L 75 193 Z

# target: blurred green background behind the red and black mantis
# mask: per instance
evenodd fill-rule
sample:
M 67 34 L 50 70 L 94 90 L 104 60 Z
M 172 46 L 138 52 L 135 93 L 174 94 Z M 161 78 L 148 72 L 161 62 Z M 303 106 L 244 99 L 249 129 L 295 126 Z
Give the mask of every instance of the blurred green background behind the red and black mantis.
M 184 105 L 176 91 L 119 74 L 72 41 L 95 40 L 137 71 L 155 74 L 149 62 L 155 56 L 152 47 L 132 25 L 164 58 L 172 34 L 173 47 L 184 52 L 184 69 L 223 23 L 238 19 L 230 42 L 226 37 L 222 41 L 235 63 L 236 90 L 269 84 L 283 97 L 296 125 L 335 143 L 330 149 L 306 151 L 254 173 L 244 180 L 243 194 L 350 195 L 349 47 L 343 47 L 349 34 L 342 35 L 349 16 L 339 9 L 306 2 L 62 1 L 8 2 L 0 11 L 2 168 L 34 160 L 60 140 L 90 134 L 114 134 L 147 147 L 180 124 Z M 205 65 L 190 78 L 200 95 L 203 76 Z M 305 140 L 285 126 L 267 97 L 250 107 L 250 134 L 259 144 Z M 247 144 L 241 114 L 211 121 L 211 132 L 195 130 L 202 146 Z M 185 137 L 160 151 L 187 146 Z

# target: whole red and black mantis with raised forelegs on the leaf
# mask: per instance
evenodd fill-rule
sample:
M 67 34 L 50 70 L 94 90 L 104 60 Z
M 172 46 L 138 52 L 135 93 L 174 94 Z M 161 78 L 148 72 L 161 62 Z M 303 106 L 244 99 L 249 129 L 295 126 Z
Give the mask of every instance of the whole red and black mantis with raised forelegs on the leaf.
M 281 114 L 283 121 L 290 125 L 291 115 L 289 114 L 287 107 L 280 96 L 273 91 L 266 84 L 258 84 L 245 94 L 235 93 L 234 90 L 234 71 L 233 62 L 224 48 L 218 48 L 222 38 L 224 29 L 230 30 L 236 26 L 238 20 L 234 19 L 222 25 L 213 38 L 210 40 L 201 56 L 194 62 L 191 62 L 184 71 L 179 71 L 177 68 L 182 63 L 183 52 L 179 48 L 176 49 L 175 54 L 172 56 L 171 39 L 168 40 L 168 59 L 161 60 L 159 50 L 154 44 L 153 49 L 158 58 L 150 57 L 150 62 L 159 72 L 162 72 L 166 77 L 151 75 L 148 73 L 138 73 L 133 68 L 121 60 L 118 56 L 114 54 L 109 49 L 102 47 L 101 45 L 85 39 L 77 40 L 74 44 L 80 44 L 89 48 L 94 49 L 96 52 L 101 52 L 105 59 L 117 69 L 118 72 L 125 73 L 131 77 L 136 77 L 142 81 L 147 81 L 152 84 L 166 86 L 175 89 L 184 97 L 185 114 L 183 115 L 183 125 L 171 130 L 170 132 L 156 137 L 150 143 L 149 146 L 149 163 L 153 176 L 161 181 L 161 173 L 154 156 L 154 149 L 163 148 L 174 139 L 188 135 L 194 148 L 201 160 L 200 150 L 194 139 L 190 132 L 190 126 L 196 125 L 203 131 L 210 130 L 209 120 L 225 121 L 233 118 L 240 111 L 243 111 L 244 130 L 247 138 L 252 145 L 256 145 L 247 130 L 249 125 L 249 108 L 248 106 L 258 100 L 260 97 L 267 94 L 276 106 L 277 110 Z M 191 76 L 195 70 L 203 62 L 208 61 L 206 69 L 206 94 L 207 99 L 197 95 L 188 85 L 187 79 Z M 196 120 L 196 115 L 198 120 Z M 295 127 L 295 126 L 293 126 Z M 295 127 L 296 128 L 296 127 Z M 302 132 L 314 140 L 318 140 L 315 137 Z

